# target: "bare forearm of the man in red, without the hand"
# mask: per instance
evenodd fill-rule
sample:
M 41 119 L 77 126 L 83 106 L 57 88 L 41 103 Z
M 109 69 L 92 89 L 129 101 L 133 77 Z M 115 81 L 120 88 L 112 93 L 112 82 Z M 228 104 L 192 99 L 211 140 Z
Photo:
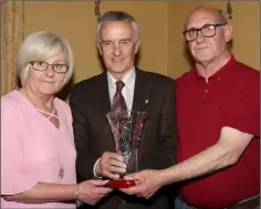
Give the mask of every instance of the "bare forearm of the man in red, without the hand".
M 234 165 L 252 137 L 251 134 L 223 127 L 217 144 L 176 166 L 163 170 L 164 184 L 190 179 Z

